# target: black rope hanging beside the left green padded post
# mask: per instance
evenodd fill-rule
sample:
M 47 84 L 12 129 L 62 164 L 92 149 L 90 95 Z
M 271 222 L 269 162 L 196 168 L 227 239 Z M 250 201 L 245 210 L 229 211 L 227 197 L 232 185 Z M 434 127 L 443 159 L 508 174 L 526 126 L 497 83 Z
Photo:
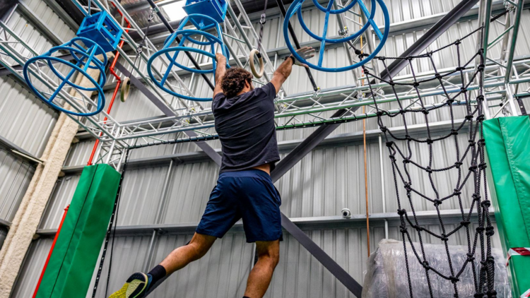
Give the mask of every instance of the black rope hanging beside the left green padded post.
M 112 234 L 112 245 L 110 246 L 110 260 L 109 260 L 109 270 L 107 274 L 107 286 L 105 287 L 105 297 L 108 297 L 107 292 L 109 290 L 109 281 L 110 281 L 110 271 L 112 270 L 112 254 L 114 252 L 114 238 L 116 237 L 116 227 L 114 222 L 118 221 L 119 213 L 119 201 L 122 197 L 122 184 L 125 177 L 125 172 L 127 169 L 127 162 L 129 161 L 129 149 L 125 153 L 125 161 L 123 165 L 122 176 L 119 178 L 118 192 L 116 194 L 116 200 L 114 201 L 114 208 L 112 209 L 112 215 L 110 215 L 109 228 L 107 230 L 107 237 L 105 237 L 105 244 L 103 245 L 103 252 L 100 258 L 100 266 L 98 268 L 98 274 L 95 276 L 94 288 L 92 290 L 92 298 L 95 297 L 95 292 L 98 290 L 98 285 L 100 283 L 101 272 L 103 270 L 103 264 L 105 263 L 105 256 L 107 255 L 107 247 L 109 245 L 111 234 Z M 112 227 L 114 226 L 114 232 L 112 232 Z

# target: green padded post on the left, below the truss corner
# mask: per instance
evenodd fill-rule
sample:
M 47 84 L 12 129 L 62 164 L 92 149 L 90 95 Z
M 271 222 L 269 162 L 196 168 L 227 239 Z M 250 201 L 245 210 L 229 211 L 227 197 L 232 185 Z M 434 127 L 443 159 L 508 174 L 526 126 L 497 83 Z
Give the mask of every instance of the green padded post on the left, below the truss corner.
M 112 215 L 120 174 L 85 167 L 36 298 L 85 298 Z

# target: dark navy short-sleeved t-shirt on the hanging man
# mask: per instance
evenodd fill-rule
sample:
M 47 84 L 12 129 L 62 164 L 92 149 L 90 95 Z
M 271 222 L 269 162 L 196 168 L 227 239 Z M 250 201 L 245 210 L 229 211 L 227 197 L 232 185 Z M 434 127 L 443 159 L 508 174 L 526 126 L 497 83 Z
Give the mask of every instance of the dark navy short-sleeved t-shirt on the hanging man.
M 212 112 L 222 145 L 223 162 L 220 173 L 241 171 L 280 160 L 274 124 L 272 83 L 226 98 L 223 93 L 213 97 Z

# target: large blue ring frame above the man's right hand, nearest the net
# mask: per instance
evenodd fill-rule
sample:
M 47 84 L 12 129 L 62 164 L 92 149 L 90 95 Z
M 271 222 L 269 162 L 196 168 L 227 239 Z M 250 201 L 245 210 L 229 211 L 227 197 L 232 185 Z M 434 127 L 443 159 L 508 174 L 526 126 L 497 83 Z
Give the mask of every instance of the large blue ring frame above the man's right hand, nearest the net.
M 319 4 L 317 0 L 312 0 L 313 4 L 317 6 L 317 8 L 320 11 L 324 11 L 324 13 L 326 13 L 326 17 L 324 19 L 324 32 L 322 36 L 314 34 L 309 28 L 307 28 L 307 25 L 305 25 L 304 19 L 302 18 L 302 4 L 304 3 L 304 1 L 305 0 L 295 0 L 293 1 L 293 4 L 289 6 L 289 9 L 287 10 L 287 13 L 286 13 L 286 17 L 283 20 L 283 37 L 285 38 L 285 44 L 287 44 L 287 47 L 289 48 L 290 52 L 293 53 L 295 58 L 298 59 L 298 61 L 302 61 L 302 63 L 307 64 L 307 66 L 310 66 L 311 68 L 317 69 L 318 71 L 326 71 L 326 72 L 333 72 L 333 73 L 340 72 L 340 71 L 350 71 L 354 68 L 358 68 L 359 66 L 363 66 L 368 61 L 373 59 L 377 55 L 377 53 L 379 53 L 379 51 L 381 51 L 381 49 L 383 48 L 384 42 L 387 41 L 387 37 L 389 35 L 389 27 L 390 27 L 390 16 L 389 16 L 387 6 L 384 4 L 382 0 L 371 0 L 372 8 L 370 11 L 368 11 L 368 8 L 363 3 L 363 0 L 352 0 L 350 4 L 348 4 L 347 6 L 341 9 L 331 9 L 333 7 L 334 0 L 329 0 L 327 7 L 324 7 L 321 4 Z M 377 4 L 379 4 L 383 12 L 384 33 L 382 33 L 381 30 L 379 30 L 374 20 L 376 2 Z M 358 32 L 353 33 L 352 35 L 349 35 L 348 37 L 337 38 L 337 39 L 331 39 L 327 37 L 329 15 L 346 12 L 350 10 L 351 8 L 353 8 L 355 4 L 359 4 L 360 9 L 363 11 L 365 16 L 367 17 L 367 22 L 365 23 L 365 25 L 363 25 L 363 28 L 361 28 Z M 302 26 L 302 29 L 312 38 L 320 42 L 318 65 L 312 64 L 308 62 L 307 60 L 302 59 L 302 57 L 296 53 L 296 49 L 293 47 L 293 44 L 290 43 L 288 25 L 289 25 L 290 18 L 293 18 L 295 13 L 298 13 L 298 20 L 300 22 L 300 25 Z M 357 38 L 360 35 L 362 35 L 370 25 L 374 29 L 377 37 L 379 37 L 379 45 L 375 48 L 374 52 L 372 52 L 365 59 L 355 64 L 352 64 L 351 66 L 334 67 L 334 68 L 322 67 L 322 61 L 324 59 L 324 48 L 325 48 L 326 42 L 331 43 L 331 44 L 349 42 L 353 40 L 354 38 Z

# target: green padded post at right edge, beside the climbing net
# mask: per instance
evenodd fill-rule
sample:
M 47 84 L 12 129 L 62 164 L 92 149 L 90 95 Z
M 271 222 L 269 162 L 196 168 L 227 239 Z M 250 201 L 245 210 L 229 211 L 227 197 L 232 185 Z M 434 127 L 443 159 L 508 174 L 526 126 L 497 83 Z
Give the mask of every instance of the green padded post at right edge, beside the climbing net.
M 495 220 L 507 254 L 530 247 L 530 118 L 503 117 L 483 122 L 488 184 Z M 512 297 L 530 289 L 530 256 L 512 256 L 508 266 Z

